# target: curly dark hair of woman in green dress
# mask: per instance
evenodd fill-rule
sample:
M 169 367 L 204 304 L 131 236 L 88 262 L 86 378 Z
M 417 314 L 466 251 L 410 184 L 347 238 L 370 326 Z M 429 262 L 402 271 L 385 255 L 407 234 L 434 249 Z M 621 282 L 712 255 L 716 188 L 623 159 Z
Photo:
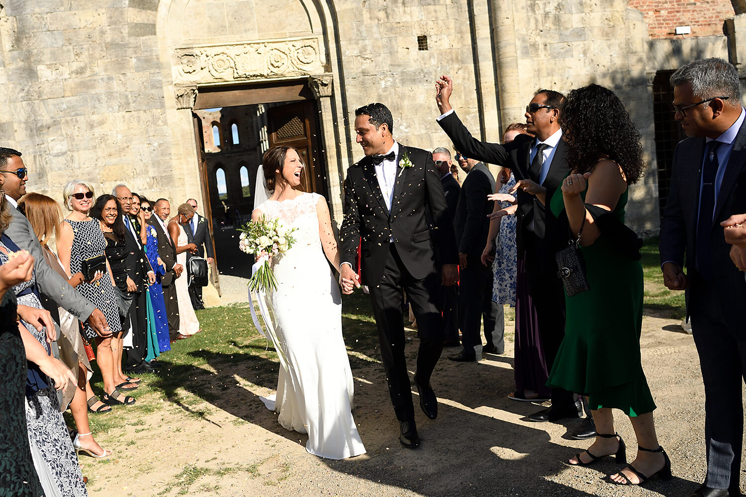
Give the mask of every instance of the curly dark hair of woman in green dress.
M 568 142 L 568 163 L 579 174 L 591 171 L 599 159 L 616 162 L 627 185 L 637 183 L 645 171 L 640 133 L 624 103 L 608 88 L 589 84 L 567 96 L 560 113 L 562 136 Z

